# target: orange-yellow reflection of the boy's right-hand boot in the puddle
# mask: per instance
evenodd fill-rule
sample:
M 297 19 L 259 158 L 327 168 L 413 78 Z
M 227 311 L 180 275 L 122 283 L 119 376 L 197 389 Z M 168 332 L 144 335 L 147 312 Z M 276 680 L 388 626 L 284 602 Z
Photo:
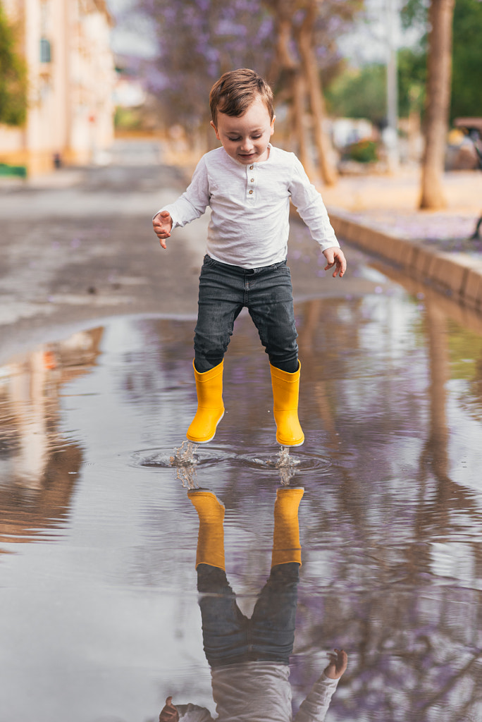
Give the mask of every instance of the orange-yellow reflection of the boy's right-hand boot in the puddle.
M 297 562 L 301 565 L 298 507 L 304 489 L 286 487 L 276 492 L 274 503 L 274 533 L 271 566 Z

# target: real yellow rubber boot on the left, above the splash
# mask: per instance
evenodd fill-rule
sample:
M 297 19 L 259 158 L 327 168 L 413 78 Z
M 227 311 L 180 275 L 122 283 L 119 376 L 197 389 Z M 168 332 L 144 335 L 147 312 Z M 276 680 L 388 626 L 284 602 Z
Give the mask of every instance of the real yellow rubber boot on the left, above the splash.
M 186 436 L 196 444 L 211 441 L 216 433 L 216 426 L 224 416 L 222 402 L 222 361 L 205 373 L 196 371 L 193 362 L 196 391 L 198 393 L 198 410 L 188 428 Z

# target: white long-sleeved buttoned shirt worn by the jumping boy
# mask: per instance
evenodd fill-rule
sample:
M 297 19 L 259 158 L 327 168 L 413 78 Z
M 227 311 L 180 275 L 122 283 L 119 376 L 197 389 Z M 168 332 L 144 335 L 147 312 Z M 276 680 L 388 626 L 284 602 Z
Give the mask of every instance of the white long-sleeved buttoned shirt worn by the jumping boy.
M 188 189 L 172 204 L 172 228 L 184 226 L 211 207 L 206 251 L 211 258 L 243 268 L 284 261 L 289 201 L 322 251 L 338 246 L 325 204 L 294 153 L 269 146 L 268 160 L 243 165 L 216 148 L 198 162 Z

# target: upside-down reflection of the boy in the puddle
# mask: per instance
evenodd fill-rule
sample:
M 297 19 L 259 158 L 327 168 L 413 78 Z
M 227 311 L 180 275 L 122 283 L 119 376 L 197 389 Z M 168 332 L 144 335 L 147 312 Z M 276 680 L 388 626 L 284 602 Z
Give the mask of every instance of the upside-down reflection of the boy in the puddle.
M 199 516 L 196 568 L 203 642 L 211 666 L 218 722 L 291 722 L 289 656 L 293 650 L 297 585 L 301 565 L 298 505 L 302 489 L 278 491 L 274 509 L 271 574 L 250 619 L 240 612 L 224 571 L 224 507 L 206 490 L 189 492 Z M 322 722 L 338 679 L 346 670 L 343 650 L 330 663 L 299 708 L 296 722 Z M 211 722 L 197 705 L 166 700 L 161 722 Z

